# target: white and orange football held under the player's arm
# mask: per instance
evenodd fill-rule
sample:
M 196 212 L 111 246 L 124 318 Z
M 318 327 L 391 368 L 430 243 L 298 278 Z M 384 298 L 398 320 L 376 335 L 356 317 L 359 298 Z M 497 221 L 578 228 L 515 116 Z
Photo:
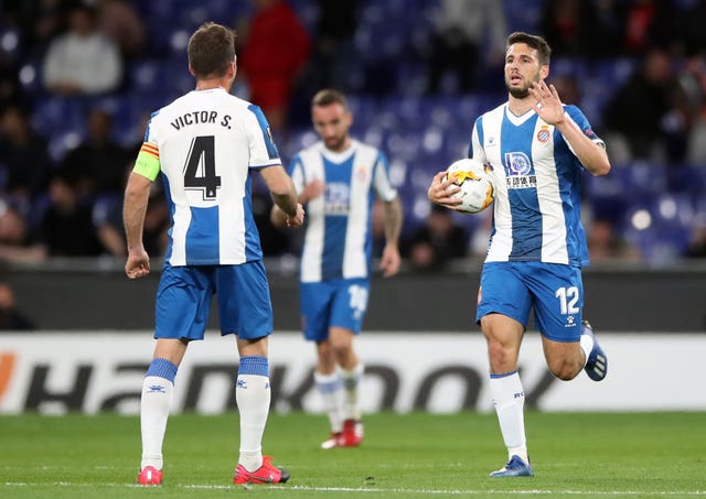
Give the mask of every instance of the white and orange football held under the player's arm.
M 488 208 L 493 202 L 493 183 L 485 165 L 478 160 L 463 159 L 451 163 L 447 178 L 453 177 L 461 191 L 451 197 L 461 199 L 459 211 L 473 214 Z

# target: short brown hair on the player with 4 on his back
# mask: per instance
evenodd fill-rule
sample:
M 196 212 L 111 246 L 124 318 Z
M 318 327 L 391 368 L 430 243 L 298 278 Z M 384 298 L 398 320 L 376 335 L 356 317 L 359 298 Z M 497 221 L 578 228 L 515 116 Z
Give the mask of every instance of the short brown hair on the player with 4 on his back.
M 235 59 L 236 34 L 229 28 L 204 22 L 189 39 L 186 53 L 196 78 L 224 76 Z

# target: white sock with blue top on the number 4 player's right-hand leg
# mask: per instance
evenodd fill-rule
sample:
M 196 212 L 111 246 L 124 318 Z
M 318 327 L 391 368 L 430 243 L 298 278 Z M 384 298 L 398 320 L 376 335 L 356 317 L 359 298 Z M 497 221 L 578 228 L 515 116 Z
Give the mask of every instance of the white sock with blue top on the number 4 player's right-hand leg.
M 243 357 L 235 400 L 240 412 L 240 456 L 248 471 L 263 466 L 263 434 L 269 414 L 270 390 L 266 357 Z

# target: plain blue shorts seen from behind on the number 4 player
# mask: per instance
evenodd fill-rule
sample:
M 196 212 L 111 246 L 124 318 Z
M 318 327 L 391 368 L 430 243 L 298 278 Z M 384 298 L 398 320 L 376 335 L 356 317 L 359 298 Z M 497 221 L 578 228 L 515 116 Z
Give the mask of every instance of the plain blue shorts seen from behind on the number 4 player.
M 261 261 L 194 267 L 164 263 L 157 290 L 154 337 L 203 339 L 214 293 L 222 336 L 257 339 L 272 332 L 272 305 Z

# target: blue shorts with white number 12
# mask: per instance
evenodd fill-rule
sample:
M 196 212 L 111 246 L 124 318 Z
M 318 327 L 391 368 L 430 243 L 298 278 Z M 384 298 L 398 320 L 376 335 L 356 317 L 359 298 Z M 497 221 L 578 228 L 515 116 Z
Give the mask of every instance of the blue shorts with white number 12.
M 475 321 L 498 313 L 526 328 L 531 310 L 544 336 L 555 341 L 578 341 L 584 314 L 581 269 L 542 262 L 483 265 Z

